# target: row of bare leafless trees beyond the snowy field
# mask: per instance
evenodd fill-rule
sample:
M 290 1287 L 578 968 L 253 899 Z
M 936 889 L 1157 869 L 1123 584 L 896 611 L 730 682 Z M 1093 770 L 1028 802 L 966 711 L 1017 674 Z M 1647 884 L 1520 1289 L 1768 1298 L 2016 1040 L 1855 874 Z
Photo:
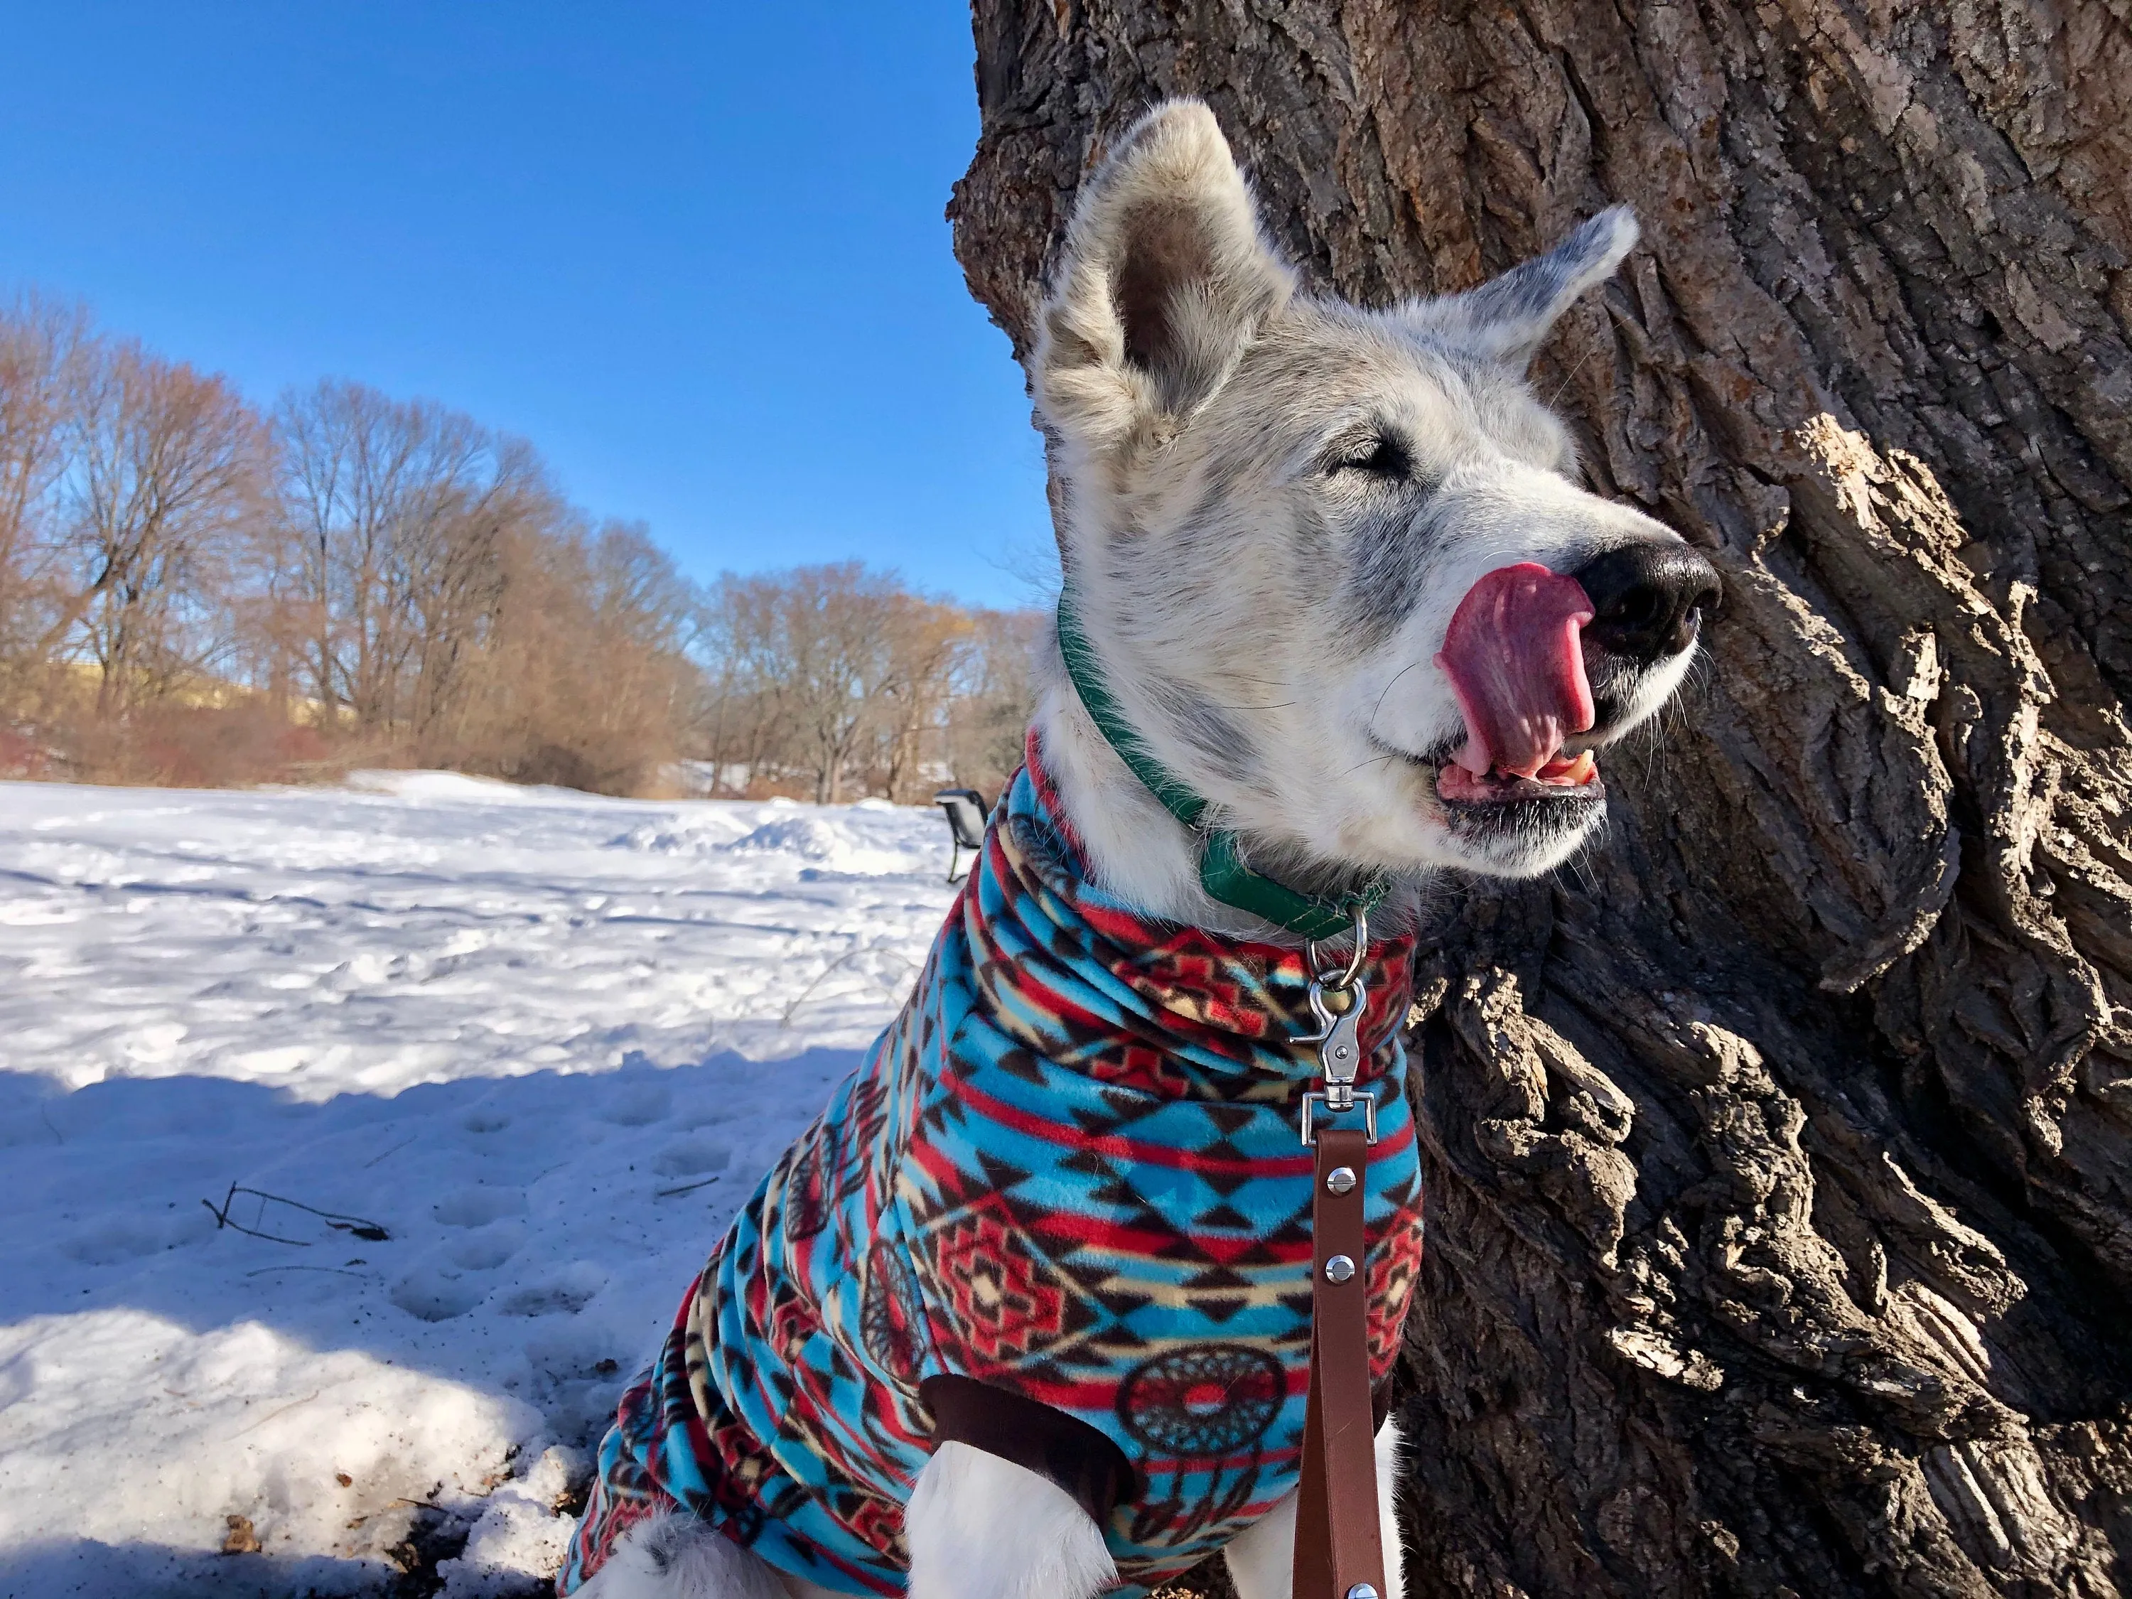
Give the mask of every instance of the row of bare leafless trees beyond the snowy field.
M 348 379 L 258 409 L 77 305 L 0 303 L 11 776 L 908 802 L 1019 761 L 1030 635 L 861 563 L 697 584 L 461 411 Z

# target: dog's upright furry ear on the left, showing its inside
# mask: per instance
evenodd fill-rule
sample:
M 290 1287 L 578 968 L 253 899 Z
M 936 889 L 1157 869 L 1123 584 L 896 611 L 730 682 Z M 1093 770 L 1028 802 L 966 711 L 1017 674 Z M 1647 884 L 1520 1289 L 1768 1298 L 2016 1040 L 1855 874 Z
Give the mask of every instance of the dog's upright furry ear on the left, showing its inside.
M 1158 104 L 1075 205 L 1038 318 L 1045 420 L 1104 450 L 1183 416 L 1292 292 L 1213 111 Z

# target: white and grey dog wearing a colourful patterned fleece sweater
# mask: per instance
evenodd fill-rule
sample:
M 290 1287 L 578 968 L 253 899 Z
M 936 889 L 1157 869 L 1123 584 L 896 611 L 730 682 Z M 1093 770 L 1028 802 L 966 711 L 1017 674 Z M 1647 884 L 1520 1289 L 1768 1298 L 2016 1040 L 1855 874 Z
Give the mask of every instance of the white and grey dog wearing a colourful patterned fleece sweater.
M 1243 1599 L 1290 1593 L 1324 953 L 1222 891 L 1211 838 L 1390 930 L 1352 951 L 1382 1379 L 1420 1249 L 1420 895 L 1586 844 L 1595 753 L 1718 599 L 1576 486 L 1524 377 L 1635 237 L 1603 211 L 1360 309 L 1301 290 L 1196 100 L 1083 185 L 1032 367 L 1081 667 L 1047 640 L 1030 765 L 917 991 L 625 1396 L 561 1593 L 1092 1599 L 1215 1548 Z M 1392 1595 L 1396 1452 L 1384 1420 Z

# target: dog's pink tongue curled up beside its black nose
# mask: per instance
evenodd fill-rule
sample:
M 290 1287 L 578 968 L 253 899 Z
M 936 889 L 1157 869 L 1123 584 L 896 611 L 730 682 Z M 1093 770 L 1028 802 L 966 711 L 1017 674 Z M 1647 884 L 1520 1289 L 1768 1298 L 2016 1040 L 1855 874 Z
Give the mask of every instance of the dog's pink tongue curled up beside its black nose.
M 1576 578 L 1522 561 L 1482 578 L 1452 612 L 1437 665 L 1467 718 L 1452 757 L 1473 776 L 1488 770 L 1529 778 L 1569 733 L 1590 731 L 1593 689 L 1584 680 L 1578 629 L 1593 603 Z

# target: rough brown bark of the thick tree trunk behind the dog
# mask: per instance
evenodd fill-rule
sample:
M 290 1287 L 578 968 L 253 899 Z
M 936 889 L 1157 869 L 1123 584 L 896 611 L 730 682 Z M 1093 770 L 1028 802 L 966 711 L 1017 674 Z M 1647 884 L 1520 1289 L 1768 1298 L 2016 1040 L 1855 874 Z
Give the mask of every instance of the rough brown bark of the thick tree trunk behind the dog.
M 1627 200 L 1537 369 L 1727 610 L 1418 1028 L 1418 1595 L 2132 1593 L 2132 6 L 976 0 L 1030 341 L 1202 94 L 1320 288 Z

